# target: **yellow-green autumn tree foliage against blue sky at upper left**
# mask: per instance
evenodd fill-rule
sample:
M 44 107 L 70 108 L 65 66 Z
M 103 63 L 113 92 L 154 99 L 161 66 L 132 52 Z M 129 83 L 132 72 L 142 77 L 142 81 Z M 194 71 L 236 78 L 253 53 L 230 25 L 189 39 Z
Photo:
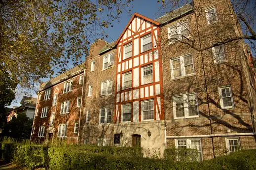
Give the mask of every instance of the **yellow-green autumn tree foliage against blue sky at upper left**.
M 0 66 L 22 87 L 62 73 L 133 0 L 0 0 Z

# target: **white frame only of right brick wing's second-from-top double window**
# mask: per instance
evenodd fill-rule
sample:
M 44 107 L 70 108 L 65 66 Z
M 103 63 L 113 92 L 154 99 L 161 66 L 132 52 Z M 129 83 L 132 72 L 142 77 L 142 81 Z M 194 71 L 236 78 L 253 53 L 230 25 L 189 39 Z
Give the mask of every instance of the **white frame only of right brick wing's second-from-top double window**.
M 193 73 L 186 74 L 184 57 L 189 56 L 189 55 L 191 55 L 191 58 L 192 58 Z M 176 60 L 176 59 L 179 59 L 179 58 L 180 58 L 181 76 L 174 77 L 173 61 Z M 171 59 L 171 78 L 172 79 L 177 79 L 177 78 L 180 78 L 180 77 L 185 77 L 185 76 L 189 76 L 189 75 L 193 75 L 193 74 L 195 74 L 195 67 L 194 67 L 194 60 L 193 60 L 192 53 L 189 53 L 189 54 L 186 54 L 186 55 L 183 55 L 183 56 L 180 56 L 180 57 L 175 57 L 175 58 Z

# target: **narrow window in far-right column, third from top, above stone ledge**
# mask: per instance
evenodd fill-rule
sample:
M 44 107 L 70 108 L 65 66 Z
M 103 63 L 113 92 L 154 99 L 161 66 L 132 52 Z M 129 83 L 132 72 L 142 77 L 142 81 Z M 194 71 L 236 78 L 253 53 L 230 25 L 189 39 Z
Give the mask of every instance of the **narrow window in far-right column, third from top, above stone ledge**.
M 231 86 L 219 87 L 220 106 L 222 109 L 234 108 Z

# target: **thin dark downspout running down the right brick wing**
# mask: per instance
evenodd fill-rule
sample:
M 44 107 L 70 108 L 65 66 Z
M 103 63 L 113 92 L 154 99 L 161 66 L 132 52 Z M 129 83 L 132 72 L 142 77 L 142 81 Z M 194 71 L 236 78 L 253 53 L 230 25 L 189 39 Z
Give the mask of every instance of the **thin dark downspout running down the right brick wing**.
M 199 40 L 199 46 L 200 49 L 202 49 L 201 46 L 201 39 L 200 39 L 200 34 L 199 34 L 199 28 L 198 28 L 198 21 L 197 21 L 197 16 L 196 16 L 196 12 L 194 10 L 194 14 L 195 14 L 195 20 L 196 20 L 196 28 L 197 28 L 197 34 L 198 34 L 198 40 Z M 212 120 L 210 118 L 211 116 L 211 112 L 210 112 L 210 105 L 209 105 L 209 94 L 208 94 L 208 89 L 207 89 L 207 81 L 206 81 L 206 75 L 205 75 L 205 68 L 204 68 L 204 57 L 203 57 L 203 52 L 200 52 L 201 54 L 201 58 L 202 58 L 202 64 L 203 64 L 203 71 L 204 71 L 204 80 L 205 80 L 205 89 L 206 89 L 206 95 L 207 95 L 207 104 L 208 104 L 208 112 L 209 112 L 209 121 L 210 121 L 210 127 L 211 127 L 211 135 L 213 135 L 213 127 L 212 127 Z M 213 145 L 213 155 L 215 158 L 215 151 L 214 151 L 214 140 L 213 140 L 213 136 L 212 138 L 212 145 Z

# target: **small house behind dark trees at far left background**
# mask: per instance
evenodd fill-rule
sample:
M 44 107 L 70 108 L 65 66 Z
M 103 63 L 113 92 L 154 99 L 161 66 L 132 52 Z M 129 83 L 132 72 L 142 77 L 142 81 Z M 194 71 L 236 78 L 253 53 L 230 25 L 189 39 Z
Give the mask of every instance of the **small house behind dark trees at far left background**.
M 17 114 L 19 113 L 26 113 L 29 118 L 34 118 L 37 98 L 23 96 L 20 104 L 21 106 L 14 106 L 12 110 L 7 113 L 7 122 L 11 121 L 13 116 L 17 117 Z

